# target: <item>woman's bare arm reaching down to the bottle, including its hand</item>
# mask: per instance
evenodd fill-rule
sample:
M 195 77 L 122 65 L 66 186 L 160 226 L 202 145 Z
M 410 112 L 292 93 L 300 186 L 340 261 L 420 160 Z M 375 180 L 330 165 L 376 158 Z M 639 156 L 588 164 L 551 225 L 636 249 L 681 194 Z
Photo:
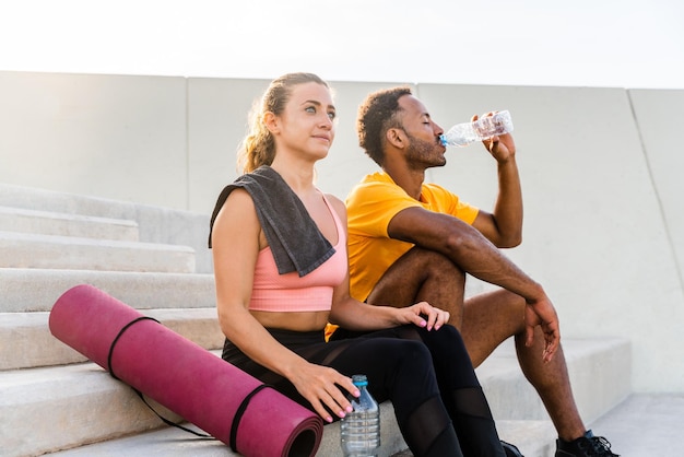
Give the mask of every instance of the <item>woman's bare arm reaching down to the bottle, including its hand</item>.
M 354 392 L 357 389 L 352 380 L 290 351 L 249 313 L 257 256 L 266 245 L 251 197 L 243 189 L 234 190 L 219 212 L 212 232 L 219 324 L 247 356 L 286 377 L 316 412 L 330 422 L 332 418 L 323 405 L 340 417 L 351 411 L 350 402 L 335 384 Z

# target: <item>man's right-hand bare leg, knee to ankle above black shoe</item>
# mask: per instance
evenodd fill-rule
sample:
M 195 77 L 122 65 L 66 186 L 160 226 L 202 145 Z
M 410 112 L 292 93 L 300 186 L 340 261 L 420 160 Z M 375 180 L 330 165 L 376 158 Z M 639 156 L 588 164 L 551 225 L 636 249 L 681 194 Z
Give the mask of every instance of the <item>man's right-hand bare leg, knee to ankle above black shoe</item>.
M 522 373 L 536 389 L 558 436 L 565 441 L 578 438 L 586 429 L 575 405 L 563 348 L 558 348 L 551 362 L 544 363 L 540 328 L 535 329 L 532 345 L 526 347 L 523 313 L 524 300 L 505 290 L 465 300 L 460 330 L 473 366 L 479 366 L 498 344 L 515 336 Z

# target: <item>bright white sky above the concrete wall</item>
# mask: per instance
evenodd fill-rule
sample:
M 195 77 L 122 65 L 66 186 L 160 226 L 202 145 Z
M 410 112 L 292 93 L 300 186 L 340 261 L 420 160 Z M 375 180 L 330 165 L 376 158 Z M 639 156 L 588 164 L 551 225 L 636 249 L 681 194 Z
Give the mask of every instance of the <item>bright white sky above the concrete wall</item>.
M 682 0 L 0 0 L 0 71 L 684 89 Z

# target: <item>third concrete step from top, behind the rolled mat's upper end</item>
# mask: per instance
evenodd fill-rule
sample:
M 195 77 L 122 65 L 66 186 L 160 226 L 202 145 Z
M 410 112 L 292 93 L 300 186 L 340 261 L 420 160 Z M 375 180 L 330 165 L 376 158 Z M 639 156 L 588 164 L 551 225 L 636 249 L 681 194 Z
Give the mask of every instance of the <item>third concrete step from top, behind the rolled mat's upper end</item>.
M 215 307 L 213 274 L 0 268 L 0 312 L 49 312 L 67 290 L 92 284 L 137 309 Z

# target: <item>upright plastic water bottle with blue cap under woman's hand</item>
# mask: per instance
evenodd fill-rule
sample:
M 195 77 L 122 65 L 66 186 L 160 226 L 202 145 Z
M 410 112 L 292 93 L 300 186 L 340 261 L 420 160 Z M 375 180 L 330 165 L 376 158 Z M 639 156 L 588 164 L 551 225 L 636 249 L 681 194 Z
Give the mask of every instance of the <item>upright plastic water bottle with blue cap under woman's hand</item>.
M 345 457 L 375 456 L 380 447 L 380 408 L 368 391 L 366 375 L 354 375 L 352 382 L 361 396 L 351 399 L 354 411 L 341 420 L 342 452 Z

